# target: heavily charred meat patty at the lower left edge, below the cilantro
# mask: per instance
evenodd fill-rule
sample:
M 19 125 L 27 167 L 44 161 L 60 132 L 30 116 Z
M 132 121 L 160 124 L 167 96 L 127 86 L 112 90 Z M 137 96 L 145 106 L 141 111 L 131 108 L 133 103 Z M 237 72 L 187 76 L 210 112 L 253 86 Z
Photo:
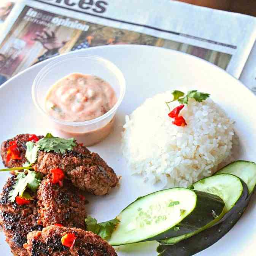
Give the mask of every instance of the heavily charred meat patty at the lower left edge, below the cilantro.
M 38 225 L 37 201 L 31 200 L 30 204 L 18 205 L 8 200 L 8 194 L 13 189 L 15 177 L 7 180 L 0 196 L 0 225 L 6 236 L 14 256 L 27 256 L 23 244 L 27 242 L 27 234 L 33 230 L 41 230 Z M 32 192 L 30 191 L 32 194 Z

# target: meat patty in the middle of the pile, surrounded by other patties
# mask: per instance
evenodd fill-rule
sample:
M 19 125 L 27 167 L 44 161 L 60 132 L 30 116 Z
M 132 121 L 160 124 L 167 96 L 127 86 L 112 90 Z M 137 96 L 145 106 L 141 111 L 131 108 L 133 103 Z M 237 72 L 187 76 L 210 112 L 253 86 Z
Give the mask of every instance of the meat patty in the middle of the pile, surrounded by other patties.
M 74 188 L 69 180 L 64 180 L 63 186 L 52 184 L 48 175 L 37 191 L 39 224 L 47 227 L 52 224 L 62 224 L 65 227 L 86 229 L 86 200 L 83 191 Z

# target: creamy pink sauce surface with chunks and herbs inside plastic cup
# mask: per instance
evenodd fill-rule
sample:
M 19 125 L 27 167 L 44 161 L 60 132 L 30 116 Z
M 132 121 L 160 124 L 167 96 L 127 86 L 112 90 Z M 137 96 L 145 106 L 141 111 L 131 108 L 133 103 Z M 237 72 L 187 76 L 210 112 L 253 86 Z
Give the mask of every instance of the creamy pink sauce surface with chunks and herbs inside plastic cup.
M 116 102 L 116 94 L 106 81 L 97 76 L 72 73 L 52 86 L 45 108 L 54 118 L 83 122 L 107 113 Z

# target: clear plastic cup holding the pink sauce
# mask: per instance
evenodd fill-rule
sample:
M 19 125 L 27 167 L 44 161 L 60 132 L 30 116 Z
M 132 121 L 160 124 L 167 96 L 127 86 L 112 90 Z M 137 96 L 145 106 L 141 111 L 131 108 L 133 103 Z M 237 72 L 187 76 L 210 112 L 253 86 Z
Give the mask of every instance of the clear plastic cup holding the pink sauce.
M 66 122 L 50 116 L 45 110 L 45 98 L 49 89 L 61 78 L 71 73 L 99 76 L 107 81 L 116 93 L 117 102 L 102 116 L 84 122 Z M 32 85 L 32 99 L 38 110 L 49 118 L 62 137 L 74 137 L 84 146 L 99 143 L 110 134 L 116 110 L 126 91 L 122 72 L 109 60 L 98 56 L 67 54 L 52 60 L 40 70 Z

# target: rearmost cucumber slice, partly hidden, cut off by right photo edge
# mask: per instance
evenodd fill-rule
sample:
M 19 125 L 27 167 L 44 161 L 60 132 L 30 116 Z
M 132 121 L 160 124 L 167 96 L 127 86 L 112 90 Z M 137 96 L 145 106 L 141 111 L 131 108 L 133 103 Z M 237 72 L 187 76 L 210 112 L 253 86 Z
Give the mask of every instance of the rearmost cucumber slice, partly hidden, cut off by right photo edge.
M 256 164 L 248 161 L 236 161 L 221 168 L 216 174 L 230 173 L 242 179 L 248 186 L 249 194 L 256 185 Z

